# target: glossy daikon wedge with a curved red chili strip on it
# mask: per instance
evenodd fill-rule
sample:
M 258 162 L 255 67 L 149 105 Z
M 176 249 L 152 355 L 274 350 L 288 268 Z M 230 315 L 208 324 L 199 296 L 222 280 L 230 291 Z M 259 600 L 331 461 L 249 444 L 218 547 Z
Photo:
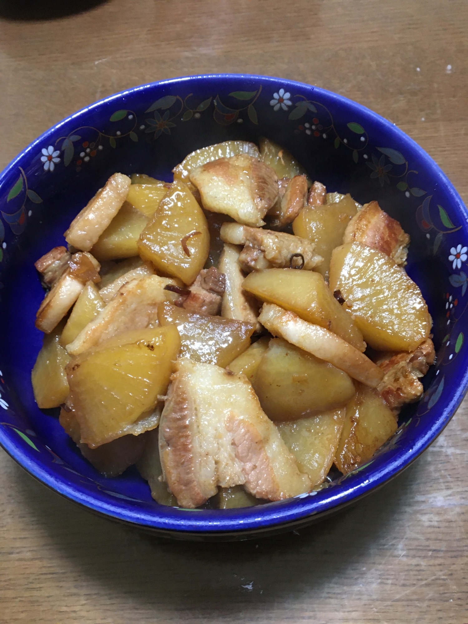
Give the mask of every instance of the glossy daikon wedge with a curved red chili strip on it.
M 175 180 L 138 241 L 140 256 L 163 275 L 191 284 L 208 258 L 210 237 L 203 210 Z

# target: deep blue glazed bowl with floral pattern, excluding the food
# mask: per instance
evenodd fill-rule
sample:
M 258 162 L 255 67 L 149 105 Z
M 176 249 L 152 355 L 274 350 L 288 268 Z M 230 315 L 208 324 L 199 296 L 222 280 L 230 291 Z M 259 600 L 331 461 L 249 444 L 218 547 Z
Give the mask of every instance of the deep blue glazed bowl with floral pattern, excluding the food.
M 424 378 L 422 400 L 402 412 L 396 434 L 365 466 L 326 489 L 247 509 L 163 507 L 134 467 L 104 479 L 67 437 L 57 410 L 37 408 L 30 375 L 42 343 L 34 319 L 44 292 L 34 261 L 64 243 L 72 218 L 112 173 L 170 181 L 192 150 L 262 135 L 291 150 L 329 190 L 361 203 L 378 200 L 411 235 L 407 272 L 434 319 L 437 364 Z M 23 150 L 1 174 L 0 210 L 0 444 L 42 483 L 110 519 L 195 540 L 246 539 L 310 524 L 409 466 L 466 392 L 466 208 L 413 140 L 340 95 L 264 76 L 193 76 L 135 87 L 80 110 Z

